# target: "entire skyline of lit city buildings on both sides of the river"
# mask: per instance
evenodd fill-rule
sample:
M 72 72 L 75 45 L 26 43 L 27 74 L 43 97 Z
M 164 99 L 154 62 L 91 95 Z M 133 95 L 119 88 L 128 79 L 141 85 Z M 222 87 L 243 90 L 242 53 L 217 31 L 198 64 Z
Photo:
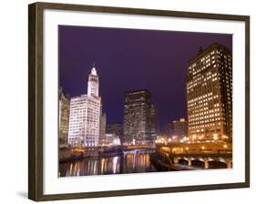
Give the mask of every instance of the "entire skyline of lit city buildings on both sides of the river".
M 230 50 L 212 44 L 189 60 L 188 119 L 169 121 L 171 141 L 226 141 L 232 138 L 232 58 Z M 59 88 L 59 145 L 97 147 L 148 145 L 159 138 L 159 113 L 147 89 L 125 92 L 123 123 L 107 123 L 93 66 L 87 95 L 69 98 Z

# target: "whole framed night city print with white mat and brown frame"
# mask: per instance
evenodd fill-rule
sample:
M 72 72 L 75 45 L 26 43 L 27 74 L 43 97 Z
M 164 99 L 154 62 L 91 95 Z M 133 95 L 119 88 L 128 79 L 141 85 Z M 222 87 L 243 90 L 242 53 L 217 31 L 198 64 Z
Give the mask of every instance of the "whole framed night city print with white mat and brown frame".
M 29 199 L 250 186 L 250 17 L 29 5 Z

